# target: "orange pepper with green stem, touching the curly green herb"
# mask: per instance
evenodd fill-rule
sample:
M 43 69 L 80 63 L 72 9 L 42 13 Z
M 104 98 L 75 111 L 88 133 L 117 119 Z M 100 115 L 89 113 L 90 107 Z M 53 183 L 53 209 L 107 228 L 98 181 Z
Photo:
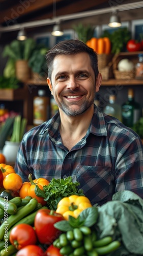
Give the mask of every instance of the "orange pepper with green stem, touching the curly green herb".
M 24 182 L 19 190 L 19 196 L 21 198 L 25 198 L 26 196 L 31 196 L 32 198 L 36 198 L 38 203 L 41 203 L 42 205 L 46 205 L 46 202 L 42 197 L 38 197 L 35 194 L 35 187 L 36 185 L 43 190 L 44 185 L 48 185 L 49 181 L 44 178 L 39 178 L 32 180 L 32 174 L 28 175 L 28 180 L 30 182 Z

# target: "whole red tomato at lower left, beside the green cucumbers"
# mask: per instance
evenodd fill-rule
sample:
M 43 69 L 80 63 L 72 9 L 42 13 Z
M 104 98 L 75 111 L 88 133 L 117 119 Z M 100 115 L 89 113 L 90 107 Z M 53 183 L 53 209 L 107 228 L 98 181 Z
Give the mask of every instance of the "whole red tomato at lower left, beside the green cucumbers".
M 26 245 L 36 244 L 37 237 L 34 228 L 28 224 L 19 224 L 10 232 L 10 242 L 20 250 Z

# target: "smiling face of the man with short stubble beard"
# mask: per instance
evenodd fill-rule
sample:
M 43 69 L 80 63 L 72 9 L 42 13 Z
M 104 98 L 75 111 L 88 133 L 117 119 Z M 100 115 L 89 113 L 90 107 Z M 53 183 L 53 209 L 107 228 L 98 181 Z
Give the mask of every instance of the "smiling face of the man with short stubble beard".
M 99 90 L 87 53 L 58 55 L 53 60 L 51 81 L 47 82 L 59 108 L 69 116 L 82 114 L 94 102 Z

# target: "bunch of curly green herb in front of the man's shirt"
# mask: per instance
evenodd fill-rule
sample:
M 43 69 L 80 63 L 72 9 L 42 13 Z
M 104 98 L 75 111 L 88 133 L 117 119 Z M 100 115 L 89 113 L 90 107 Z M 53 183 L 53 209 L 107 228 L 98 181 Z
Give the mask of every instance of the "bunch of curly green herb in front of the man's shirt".
M 62 198 L 71 195 L 84 196 L 83 190 L 78 190 L 79 185 L 79 182 L 72 181 L 72 177 L 67 177 L 65 179 L 53 178 L 48 185 L 43 186 L 44 196 L 40 191 L 41 189 L 36 188 L 35 193 L 39 197 L 44 197 L 49 209 L 56 210 L 57 205 Z

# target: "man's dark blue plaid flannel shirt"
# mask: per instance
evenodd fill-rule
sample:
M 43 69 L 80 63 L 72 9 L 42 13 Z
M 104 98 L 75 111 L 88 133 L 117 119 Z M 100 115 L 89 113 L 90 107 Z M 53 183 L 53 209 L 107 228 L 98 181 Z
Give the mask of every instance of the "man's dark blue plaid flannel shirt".
M 143 198 L 143 153 L 139 136 L 118 119 L 98 111 L 87 134 L 69 151 L 62 143 L 59 112 L 28 131 L 21 141 L 15 171 L 28 181 L 72 176 L 92 204 L 111 200 L 119 190 Z

